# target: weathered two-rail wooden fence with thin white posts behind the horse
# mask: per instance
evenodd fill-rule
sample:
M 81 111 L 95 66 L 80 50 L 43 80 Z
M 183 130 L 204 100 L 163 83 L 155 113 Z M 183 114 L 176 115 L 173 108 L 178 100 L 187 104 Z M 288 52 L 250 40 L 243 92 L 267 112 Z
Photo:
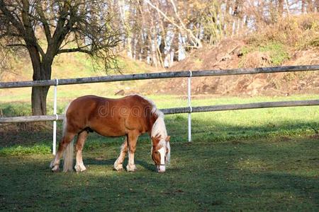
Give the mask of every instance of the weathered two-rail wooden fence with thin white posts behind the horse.
M 174 107 L 164 108 L 164 114 L 189 114 L 189 141 L 191 141 L 191 113 L 192 112 L 211 112 L 221 110 L 245 110 L 254 108 L 266 107 L 296 107 L 296 106 L 310 106 L 319 105 L 319 100 L 302 100 L 302 101 L 281 101 L 281 102 L 255 102 L 249 104 L 231 104 L 231 105 L 210 105 L 201 107 L 191 107 L 191 78 L 200 76 L 228 76 L 228 75 L 242 75 L 242 74 L 256 74 L 256 73 L 279 73 L 279 72 L 294 72 L 294 71 L 319 71 L 319 64 L 308 66 L 277 66 L 265 67 L 256 69 L 228 69 L 228 70 L 205 70 L 205 71 L 170 71 L 160 73 L 138 73 L 128 75 L 114 75 L 114 76 L 98 76 L 86 78 L 63 78 L 52 79 L 47 81 L 21 81 L 21 82 L 1 82 L 0 88 L 23 88 L 34 86 L 55 86 L 55 106 L 53 115 L 43 116 L 26 116 L 26 117 L 0 117 L 0 124 L 14 123 L 14 122 L 43 122 L 53 121 L 53 153 L 55 153 L 55 136 L 56 136 L 56 121 L 62 120 L 64 115 L 56 114 L 56 94 L 57 86 L 82 84 L 82 83 L 101 83 L 113 81 L 133 81 L 145 79 L 159 79 L 159 78 L 188 78 L 188 107 Z

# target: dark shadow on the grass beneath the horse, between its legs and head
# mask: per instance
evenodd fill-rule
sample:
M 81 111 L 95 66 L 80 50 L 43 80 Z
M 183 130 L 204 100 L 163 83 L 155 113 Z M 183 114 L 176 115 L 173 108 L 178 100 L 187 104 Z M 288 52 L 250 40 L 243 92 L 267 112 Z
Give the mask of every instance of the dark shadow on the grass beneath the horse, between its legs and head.
M 116 162 L 116 158 L 103 160 L 103 159 L 97 159 L 97 158 L 86 158 L 84 160 L 85 165 L 111 165 L 113 167 L 113 164 Z M 123 167 L 126 167 L 128 165 L 128 158 L 125 158 L 123 162 Z M 155 171 L 155 165 L 152 163 L 147 163 L 143 160 L 135 160 L 135 165 L 140 165 L 144 167 L 146 170 Z

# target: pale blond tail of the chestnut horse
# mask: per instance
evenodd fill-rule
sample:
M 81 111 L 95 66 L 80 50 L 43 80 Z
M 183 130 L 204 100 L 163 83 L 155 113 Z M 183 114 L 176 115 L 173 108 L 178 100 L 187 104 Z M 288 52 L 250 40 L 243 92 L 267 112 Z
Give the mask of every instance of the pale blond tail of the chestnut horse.
M 65 107 L 65 118 L 63 119 L 63 136 L 65 136 L 65 132 L 67 131 L 67 109 L 69 105 Z M 63 172 L 68 172 L 73 170 L 73 153 L 74 153 L 74 140 L 69 142 L 67 148 L 65 149 L 65 153 L 63 153 Z

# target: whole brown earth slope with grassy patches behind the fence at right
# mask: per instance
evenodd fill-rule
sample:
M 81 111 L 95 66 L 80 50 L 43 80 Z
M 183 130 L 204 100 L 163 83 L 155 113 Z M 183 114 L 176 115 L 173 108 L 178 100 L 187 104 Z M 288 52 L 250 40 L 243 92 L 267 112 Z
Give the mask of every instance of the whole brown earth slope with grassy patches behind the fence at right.
M 280 18 L 259 25 L 255 33 L 226 39 L 215 47 L 188 52 L 167 71 L 255 68 L 319 64 L 319 14 Z M 145 93 L 150 85 L 145 85 Z M 157 93 L 186 93 L 186 78 L 156 81 Z M 153 92 L 153 90 L 152 90 Z M 319 72 L 272 73 L 247 76 L 200 77 L 192 92 L 213 95 L 291 95 L 319 93 Z

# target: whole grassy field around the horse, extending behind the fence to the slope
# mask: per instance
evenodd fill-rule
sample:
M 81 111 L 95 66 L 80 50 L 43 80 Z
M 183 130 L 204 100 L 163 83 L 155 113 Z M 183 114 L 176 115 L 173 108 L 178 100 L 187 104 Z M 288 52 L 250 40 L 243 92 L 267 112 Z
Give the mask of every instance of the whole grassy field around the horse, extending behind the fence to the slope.
M 60 112 L 72 98 L 60 95 Z M 186 105 L 184 96 L 149 98 L 159 108 Z M 195 96 L 192 104 L 306 99 L 318 96 Z M 5 114 L 30 114 L 23 97 L 15 103 L 4 100 L 0 108 Z M 50 172 L 50 129 L 2 133 L 0 210 L 318 211 L 318 110 L 287 107 L 192 114 L 192 143 L 186 142 L 186 114 L 168 115 L 172 161 L 164 174 L 155 172 L 147 136 L 139 139 L 138 171 L 116 172 L 113 163 L 123 138 L 90 134 L 84 148 L 87 170 L 77 174 Z

